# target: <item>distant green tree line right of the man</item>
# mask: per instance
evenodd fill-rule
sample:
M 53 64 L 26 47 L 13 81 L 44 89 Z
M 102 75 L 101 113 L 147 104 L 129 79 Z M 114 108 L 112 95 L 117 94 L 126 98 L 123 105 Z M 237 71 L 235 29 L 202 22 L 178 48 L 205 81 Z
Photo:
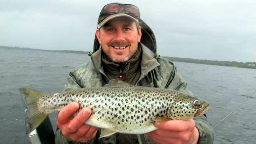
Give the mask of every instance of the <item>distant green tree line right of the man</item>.
M 172 61 L 179 62 L 189 62 L 189 63 L 199 63 L 207 65 L 218 65 L 218 66 L 228 66 L 228 67 L 238 67 L 238 68 L 254 68 L 256 69 L 256 62 L 237 62 L 237 61 L 219 61 L 219 60 L 198 60 L 189 58 L 177 58 L 177 57 L 165 57 Z

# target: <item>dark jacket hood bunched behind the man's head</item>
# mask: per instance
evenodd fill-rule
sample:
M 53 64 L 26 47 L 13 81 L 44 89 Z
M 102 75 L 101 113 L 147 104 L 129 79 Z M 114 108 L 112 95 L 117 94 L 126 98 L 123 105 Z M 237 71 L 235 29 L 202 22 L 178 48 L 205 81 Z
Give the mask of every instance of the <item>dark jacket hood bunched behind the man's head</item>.
M 151 28 L 143 21 L 143 20 L 139 20 L 140 22 L 140 27 L 141 27 L 141 39 L 140 39 L 140 43 L 144 46 L 147 47 L 151 52 L 150 55 L 152 55 L 153 57 L 156 56 L 156 38 L 155 38 L 155 34 L 153 33 L 153 31 L 151 30 Z M 95 38 L 94 38 L 94 44 L 93 44 L 93 52 L 98 51 L 100 48 L 100 43 L 96 37 L 95 34 Z

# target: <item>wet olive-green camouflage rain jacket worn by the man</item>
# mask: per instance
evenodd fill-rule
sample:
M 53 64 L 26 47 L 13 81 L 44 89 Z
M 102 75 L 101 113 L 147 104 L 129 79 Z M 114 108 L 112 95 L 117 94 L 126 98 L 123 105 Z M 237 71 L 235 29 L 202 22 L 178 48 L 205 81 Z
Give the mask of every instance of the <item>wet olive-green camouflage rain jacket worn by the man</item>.
M 151 29 L 142 21 L 142 38 L 145 31 L 147 32 L 147 39 L 151 39 L 151 43 L 142 39 L 139 43 L 139 48 L 142 50 L 141 63 L 140 63 L 140 77 L 134 84 L 137 86 L 145 87 L 159 87 L 172 90 L 181 91 L 189 95 L 193 95 L 188 90 L 187 83 L 182 76 L 178 73 L 176 66 L 168 59 L 154 58 L 156 57 L 156 41 L 155 36 Z M 144 37 L 144 38 L 145 38 Z M 153 40 L 152 40 L 153 39 Z M 100 45 L 95 41 L 94 53 L 91 55 L 91 61 L 70 71 L 67 83 L 65 84 L 64 91 L 74 90 L 84 87 L 101 87 L 108 83 L 110 80 L 104 72 L 102 65 L 102 50 Z M 199 144 L 211 144 L 214 139 L 214 131 L 211 124 L 207 121 L 206 115 L 194 118 L 196 128 L 199 131 Z M 154 144 L 155 142 L 146 134 L 134 134 L 124 136 L 126 134 L 115 133 L 111 136 L 99 139 L 100 129 L 92 140 L 87 142 L 76 142 L 62 135 L 60 129 L 56 130 L 55 143 L 61 144 L 118 144 L 118 143 L 131 143 L 131 144 Z M 119 137 L 124 137 L 120 141 Z M 127 139 L 128 138 L 128 139 Z

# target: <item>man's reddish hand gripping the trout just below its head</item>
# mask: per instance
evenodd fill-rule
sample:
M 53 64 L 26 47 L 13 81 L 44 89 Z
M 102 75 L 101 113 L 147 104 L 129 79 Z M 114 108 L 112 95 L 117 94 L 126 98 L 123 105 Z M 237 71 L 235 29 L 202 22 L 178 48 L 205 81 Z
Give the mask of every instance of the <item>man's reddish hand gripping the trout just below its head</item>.
M 147 135 L 159 144 L 196 144 L 198 141 L 199 132 L 193 119 L 156 121 L 154 124 L 159 129 Z

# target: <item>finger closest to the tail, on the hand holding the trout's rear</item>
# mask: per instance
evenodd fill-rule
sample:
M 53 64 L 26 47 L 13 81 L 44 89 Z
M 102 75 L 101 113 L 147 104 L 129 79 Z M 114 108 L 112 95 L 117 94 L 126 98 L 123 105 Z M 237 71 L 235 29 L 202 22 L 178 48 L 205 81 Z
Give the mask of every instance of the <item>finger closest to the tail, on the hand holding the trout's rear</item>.
M 78 108 L 79 104 L 77 102 L 71 102 L 61 109 L 57 116 L 57 125 L 66 124 L 68 122 L 68 118 L 72 116 Z

